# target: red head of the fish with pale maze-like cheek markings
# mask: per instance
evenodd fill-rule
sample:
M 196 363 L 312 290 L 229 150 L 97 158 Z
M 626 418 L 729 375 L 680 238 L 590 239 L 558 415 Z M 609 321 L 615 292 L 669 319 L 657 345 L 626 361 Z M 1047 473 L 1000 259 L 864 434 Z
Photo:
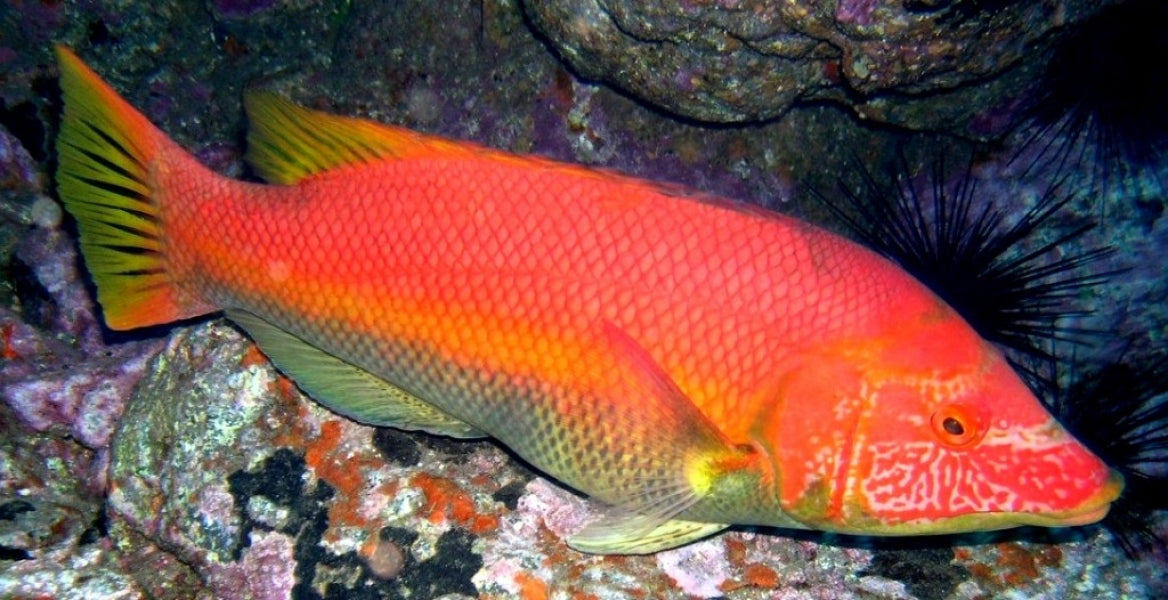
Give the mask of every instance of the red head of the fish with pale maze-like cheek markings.
M 1082 525 L 1122 489 L 947 307 L 812 363 L 786 382 L 770 441 L 783 511 L 808 528 Z

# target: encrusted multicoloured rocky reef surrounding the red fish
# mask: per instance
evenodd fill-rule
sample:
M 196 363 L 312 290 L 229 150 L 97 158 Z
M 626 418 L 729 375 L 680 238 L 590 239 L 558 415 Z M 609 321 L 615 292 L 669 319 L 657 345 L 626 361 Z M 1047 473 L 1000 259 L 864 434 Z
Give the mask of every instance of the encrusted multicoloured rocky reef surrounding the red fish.
M 234 176 L 248 174 L 239 95 L 253 86 L 829 226 L 809 189 L 856 186 L 861 170 L 915 181 L 899 156 L 944 152 L 972 156 L 979 197 L 1011 215 L 1056 181 L 1076 194 L 1045 239 L 1103 223 L 1076 244 L 1119 245 L 1091 268 L 1127 271 L 1078 300 L 1094 309 L 1083 323 L 1118 341 L 1078 353 L 1115 357 L 1168 333 L 1164 165 L 1107 187 L 1042 152 L 1058 132 L 1014 128 L 1035 57 L 1098 2 L 4 2 L 0 596 L 1168 594 L 1166 557 L 1129 557 L 1100 526 L 909 540 L 736 529 L 648 557 L 573 552 L 563 539 L 596 507 L 495 444 L 331 413 L 222 319 L 105 329 L 51 183 L 51 42 Z M 1168 532 L 1162 512 L 1149 525 Z

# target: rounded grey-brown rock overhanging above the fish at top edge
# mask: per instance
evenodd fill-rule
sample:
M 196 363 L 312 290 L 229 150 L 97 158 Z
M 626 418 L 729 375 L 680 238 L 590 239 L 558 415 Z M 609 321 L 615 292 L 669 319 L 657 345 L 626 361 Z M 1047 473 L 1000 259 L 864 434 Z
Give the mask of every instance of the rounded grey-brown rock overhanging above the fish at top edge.
M 1104 2 L 549 0 L 531 23 L 576 70 L 669 112 L 739 123 L 830 100 L 913 128 L 965 125 L 993 78 Z M 969 85 L 978 83 L 978 85 Z

